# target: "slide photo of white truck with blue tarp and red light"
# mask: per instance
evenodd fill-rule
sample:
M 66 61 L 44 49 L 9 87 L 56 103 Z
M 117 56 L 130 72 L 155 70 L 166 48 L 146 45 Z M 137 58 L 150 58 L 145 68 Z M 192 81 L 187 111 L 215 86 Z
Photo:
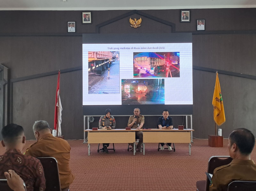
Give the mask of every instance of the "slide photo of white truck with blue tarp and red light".
M 133 53 L 133 77 L 180 77 L 180 52 Z

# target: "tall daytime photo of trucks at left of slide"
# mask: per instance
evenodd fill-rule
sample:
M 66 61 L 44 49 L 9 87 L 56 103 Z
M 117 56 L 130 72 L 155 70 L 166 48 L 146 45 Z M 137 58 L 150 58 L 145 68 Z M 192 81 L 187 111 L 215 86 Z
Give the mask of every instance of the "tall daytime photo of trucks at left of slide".
M 119 94 L 119 51 L 88 52 L 88 93 Z

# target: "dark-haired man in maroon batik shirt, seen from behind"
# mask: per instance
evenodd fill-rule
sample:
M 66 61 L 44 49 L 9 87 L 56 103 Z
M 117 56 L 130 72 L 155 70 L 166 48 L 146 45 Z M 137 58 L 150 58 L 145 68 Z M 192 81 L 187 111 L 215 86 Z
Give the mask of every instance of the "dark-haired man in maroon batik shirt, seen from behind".
M 45 177 L 41 162 L 31 156 L 22 154 L 26 137 L 23 127 L 10 124 L 2 131 L 2 146 L 6 152 L 0 155 L 0 179 L 4 179 L 4 172 L 14 170 L 25 182 L 27 191 L 43 191 L 45 189 Z

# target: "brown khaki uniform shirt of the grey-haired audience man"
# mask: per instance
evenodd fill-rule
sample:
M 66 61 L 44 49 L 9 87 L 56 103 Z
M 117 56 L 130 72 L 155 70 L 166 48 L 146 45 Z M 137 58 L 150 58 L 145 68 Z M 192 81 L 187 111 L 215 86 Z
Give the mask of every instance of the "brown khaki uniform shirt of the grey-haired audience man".
M 74 180 L 71 173 L 70 146 L 62 138 L 54 137 L 51 133 L 43 135 L 38 142 L 32 144 L 27 150 L 26 155 L 32 157 L 54 157 L 58 162 L 61 189 L 67 188 Z

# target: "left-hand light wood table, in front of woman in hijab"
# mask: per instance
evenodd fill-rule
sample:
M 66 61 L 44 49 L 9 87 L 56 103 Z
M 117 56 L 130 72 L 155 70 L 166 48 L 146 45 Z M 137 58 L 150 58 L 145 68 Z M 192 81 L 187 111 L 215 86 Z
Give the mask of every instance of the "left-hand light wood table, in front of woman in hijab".
M 139 131 L 137 129 L 98 129 L 97 131 L 93 131 L 91 129 L 87 129 L 84 131 L 88 131 L 88 156 L 90 156 L 90 144 L 91 143 L 132 143 L 135 148 L 135 131 Z M 136 149 L 133 151 L 133 155 L 135 155 Z

